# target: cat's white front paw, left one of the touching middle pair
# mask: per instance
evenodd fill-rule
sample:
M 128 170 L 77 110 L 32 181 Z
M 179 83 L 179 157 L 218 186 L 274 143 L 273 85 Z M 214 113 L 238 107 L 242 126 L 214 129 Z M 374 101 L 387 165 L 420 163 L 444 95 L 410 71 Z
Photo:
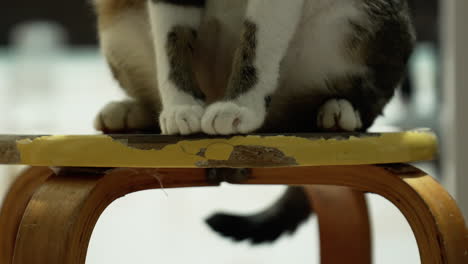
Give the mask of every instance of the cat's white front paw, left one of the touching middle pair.
M 166 107 L 159 116 L 163 135 L 190 135 L 201 132 L 204 109 L 200 105 Z

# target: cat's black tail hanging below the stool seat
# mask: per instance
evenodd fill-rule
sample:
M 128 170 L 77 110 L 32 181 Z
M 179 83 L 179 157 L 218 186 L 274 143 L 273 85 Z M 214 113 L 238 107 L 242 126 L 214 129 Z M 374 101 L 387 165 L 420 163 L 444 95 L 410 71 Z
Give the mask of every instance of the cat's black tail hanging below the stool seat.
M 284 233 L 294 233 L 311 213 L 304 188 L 288 187 L 279 200 L 260 213 L 247 216 L 218 213 L 206 222 L 223 236 L 260 244 L 273 242 Z

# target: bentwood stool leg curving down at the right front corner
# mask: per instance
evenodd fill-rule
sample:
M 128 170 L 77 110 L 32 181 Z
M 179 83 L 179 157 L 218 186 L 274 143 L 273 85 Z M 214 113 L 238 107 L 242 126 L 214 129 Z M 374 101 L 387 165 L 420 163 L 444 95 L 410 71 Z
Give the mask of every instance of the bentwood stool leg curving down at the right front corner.
M 468 263 L 468 234 L 456 202 L 436 180 L 410 165 L 253 169 L 248 183 L 325 184 L 376 193 L 408 220 L 421 263 Z

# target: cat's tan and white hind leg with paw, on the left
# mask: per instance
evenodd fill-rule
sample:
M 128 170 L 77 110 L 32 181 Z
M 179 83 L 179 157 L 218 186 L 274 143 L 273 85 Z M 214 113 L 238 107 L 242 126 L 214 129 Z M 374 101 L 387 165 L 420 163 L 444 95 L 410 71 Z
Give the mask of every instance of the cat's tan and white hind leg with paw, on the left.
M 107 104 L 95 118 L 94 127 L 105 133 L 159 132 L 161 107 L 143 0 L 99 0 L 98 4 L 102 52 L 115 80 L 131 99 Z

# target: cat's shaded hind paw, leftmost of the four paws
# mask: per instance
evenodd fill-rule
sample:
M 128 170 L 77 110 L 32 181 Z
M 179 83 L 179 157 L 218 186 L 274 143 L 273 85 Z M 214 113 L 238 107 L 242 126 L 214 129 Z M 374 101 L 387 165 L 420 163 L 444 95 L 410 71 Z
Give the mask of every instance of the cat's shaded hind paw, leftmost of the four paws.
M 143 104 L 126 100 L 107 104 L 96 116 L 94 128 L 106 133 L 157 129 L 155 114 Z

